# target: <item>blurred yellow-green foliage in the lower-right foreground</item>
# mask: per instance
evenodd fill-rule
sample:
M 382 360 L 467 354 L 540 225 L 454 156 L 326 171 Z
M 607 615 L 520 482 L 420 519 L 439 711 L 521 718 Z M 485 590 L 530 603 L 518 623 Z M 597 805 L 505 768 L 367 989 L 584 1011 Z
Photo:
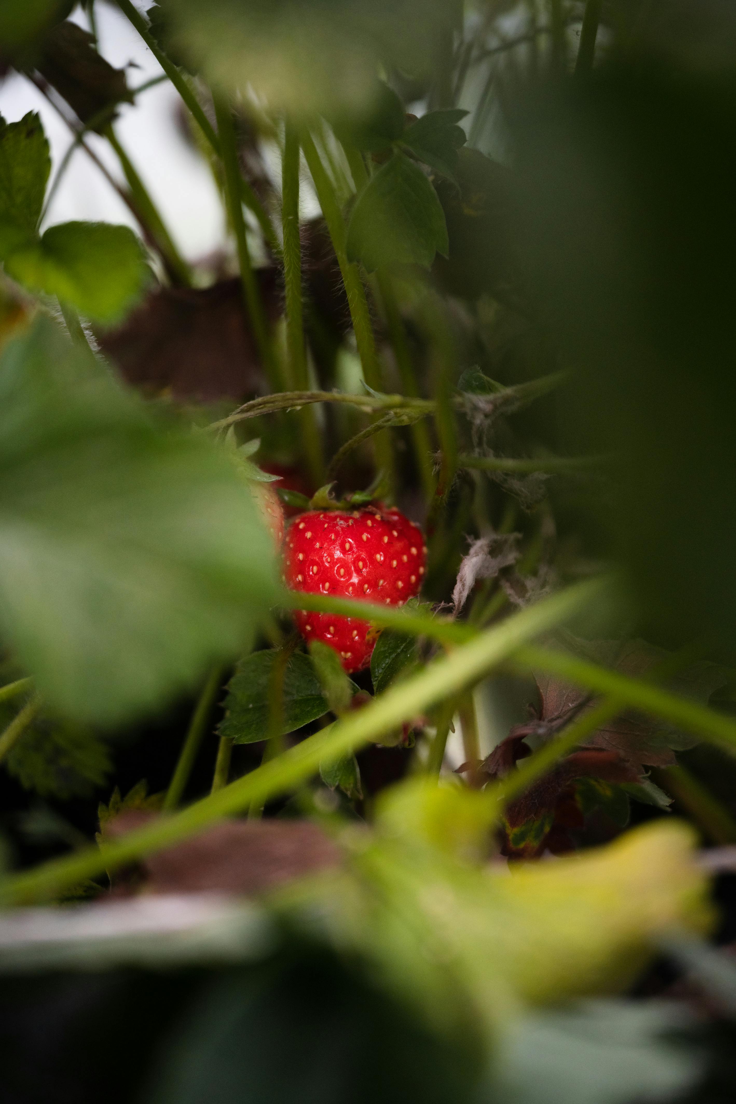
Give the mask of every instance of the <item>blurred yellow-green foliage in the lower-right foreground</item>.
M 621 991 L 659 933 L 710 926 L 684 824 L 510 877 L 473 858 L 493 815 L 489 795 L 431 779 L 387 790 L 376 837 L 355 838 L 346 871 L 284 904 L 311 915 L 317 898 L 338 947 L 366 956 L 434 1030 L 472 1030 L 484 1047 L 527 1005 Z

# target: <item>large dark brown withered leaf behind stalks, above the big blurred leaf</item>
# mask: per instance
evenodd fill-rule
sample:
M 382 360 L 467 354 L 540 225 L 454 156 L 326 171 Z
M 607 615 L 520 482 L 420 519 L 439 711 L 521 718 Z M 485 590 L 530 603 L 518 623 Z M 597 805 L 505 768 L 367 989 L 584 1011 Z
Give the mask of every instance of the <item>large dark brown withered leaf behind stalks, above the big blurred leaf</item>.
M 271 318 L 280 308 L 275 269 L 257 269 Z M 125 379 L 180 401 L 243 402 L 263 393 L 265 376 L 246 323 L 239 279 L 207 288 L 159 288 L 122 326 L 97 335 Z

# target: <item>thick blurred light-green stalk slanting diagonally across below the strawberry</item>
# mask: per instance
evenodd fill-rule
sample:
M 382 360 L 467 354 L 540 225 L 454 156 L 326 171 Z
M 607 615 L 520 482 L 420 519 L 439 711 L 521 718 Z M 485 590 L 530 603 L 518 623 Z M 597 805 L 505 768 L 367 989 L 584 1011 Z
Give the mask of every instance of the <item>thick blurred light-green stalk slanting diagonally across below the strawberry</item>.
M 99 849 L 52 859 L 34 870 L 0 881 L 0 900 L 7 904 L 53 896 L 65 887 L 104 870 L 114 871 L 151 851 L 161 850 L 201 831 L 222 817 L 235 816 L 254 803 L 265 804 L 298 787 L 318 769 L 323 758 L 338 758 L 363 744 L 380 740 L 397 725 L 471 687 L 518 650 L 525 640 L 550 631 L 600 596 L 599 582 L 586 582 L 546 598 L 510 617 L 502 625 L 455 648 L 427 665 L 364 709 L 341 718 L 329 729 L 309 736 L 278 758 L 215 790 L 188 808 L 128 832 Z

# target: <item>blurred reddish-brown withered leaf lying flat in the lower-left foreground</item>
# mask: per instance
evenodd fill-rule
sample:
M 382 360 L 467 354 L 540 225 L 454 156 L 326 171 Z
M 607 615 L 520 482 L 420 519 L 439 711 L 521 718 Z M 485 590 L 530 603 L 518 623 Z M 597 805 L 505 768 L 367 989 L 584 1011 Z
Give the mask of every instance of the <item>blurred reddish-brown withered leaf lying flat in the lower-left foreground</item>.
M 148 824 L 154 814 L 124 811 L 105 827 L 106 839 Z M 228 820 L 140 861 L 137 877 L 116 880 L 114 892 L 232 893 L 256 896 L 297 878 L 335 867 L 339 847 L 310 820 Z

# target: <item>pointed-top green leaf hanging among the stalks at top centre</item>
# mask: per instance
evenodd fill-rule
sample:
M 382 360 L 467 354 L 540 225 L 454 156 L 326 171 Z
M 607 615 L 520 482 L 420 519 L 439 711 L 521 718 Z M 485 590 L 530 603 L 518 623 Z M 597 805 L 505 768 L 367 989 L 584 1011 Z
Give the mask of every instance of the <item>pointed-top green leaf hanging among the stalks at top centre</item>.
M 429 268 L 448 254 L 445 213 L 422 169 L 406 157 L 392 159 L 355 201 L 348 226 L 348 257 L 369 272 L 396 265 Z

